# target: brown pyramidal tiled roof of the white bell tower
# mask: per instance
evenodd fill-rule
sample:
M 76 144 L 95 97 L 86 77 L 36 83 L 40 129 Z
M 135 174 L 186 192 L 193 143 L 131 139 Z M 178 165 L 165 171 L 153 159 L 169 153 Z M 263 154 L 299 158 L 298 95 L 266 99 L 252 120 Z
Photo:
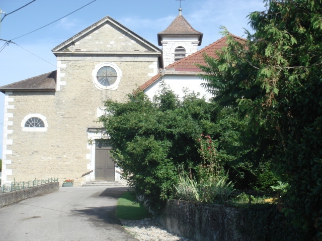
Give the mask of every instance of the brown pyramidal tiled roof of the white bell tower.
M 177 18 L 175 18 L 174 21 L 172 21 L 172 23 L 168 26 L 167 29 L 165 29 L 162 32 L 159 32 L 157 34 L 157 43 L 158 45 L 162 45 L 161 43 L 161 37 L 163 35 L 197 35 L 198 40 L 199 40 L 199 46 L 201 45 L 202 42 L 202 36 L 203 33 L 196 31 L 189 23 L 188 21 L 185 19 L 185 17 L 183 17 L 181 14 L 179 14 L 177 16 Z

